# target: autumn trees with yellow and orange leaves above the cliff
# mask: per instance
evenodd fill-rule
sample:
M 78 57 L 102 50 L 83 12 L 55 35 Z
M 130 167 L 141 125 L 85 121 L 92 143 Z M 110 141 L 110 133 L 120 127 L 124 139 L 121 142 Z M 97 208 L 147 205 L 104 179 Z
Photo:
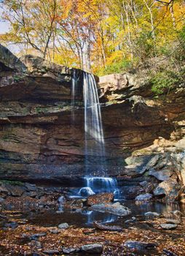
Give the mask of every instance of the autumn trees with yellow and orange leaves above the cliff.
M 97 75 L 147 66 L 159 56 L 184 61 L 184 0 L 4 0 L 9 31 L 19 45 Z

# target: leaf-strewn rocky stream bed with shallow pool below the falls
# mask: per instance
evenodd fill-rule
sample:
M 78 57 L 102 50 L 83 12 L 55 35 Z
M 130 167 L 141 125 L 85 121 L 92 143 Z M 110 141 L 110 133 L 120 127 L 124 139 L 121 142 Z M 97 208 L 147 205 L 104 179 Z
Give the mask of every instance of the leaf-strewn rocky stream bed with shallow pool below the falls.
M 185 254 L 184 204 L 71 198 L 64 187 L 2 181 L 1 196 L 0 255 Z

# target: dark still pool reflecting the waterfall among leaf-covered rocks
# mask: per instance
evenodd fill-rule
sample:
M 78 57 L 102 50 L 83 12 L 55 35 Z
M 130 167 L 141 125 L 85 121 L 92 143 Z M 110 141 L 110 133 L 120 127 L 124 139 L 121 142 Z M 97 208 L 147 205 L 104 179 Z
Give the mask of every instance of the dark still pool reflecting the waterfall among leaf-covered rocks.
M 98 211 L 90 211 L 88 208 L 77 210 L 65 210 L 61 213 L 56 211 L 47 211 L 40 214 L 28 213 L 26 218 L 31 224 L 42 225 L 44 227 L 57 226 L 62 222 L 68 222 L 68 225 L 76 227 L 92 227 L 94 221 L 109 223 L 114 225 L 123 225 L 127 219 L 136 217 L 137 219 L 145 219 L 144 214 L 147 211 L 156 211 L 159 214 L 167 214 L 170 211 L 181 211 L 185 213 L 185 205 L 178 203 L 164 204 L 164 203 L 145 203 L 135 205 L 133 201 L 125 201 L 125 206 L 131 209 L 132 214 L 125 217 L 118 217 L 114 214 L 101 213 Z

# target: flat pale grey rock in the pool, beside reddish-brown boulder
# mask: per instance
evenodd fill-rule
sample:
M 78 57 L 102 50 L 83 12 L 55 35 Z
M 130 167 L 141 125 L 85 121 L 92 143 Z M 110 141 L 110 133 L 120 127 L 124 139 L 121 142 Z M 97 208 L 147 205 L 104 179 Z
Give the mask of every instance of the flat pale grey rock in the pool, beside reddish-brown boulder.
M 118 215 L 118 216 L 126 216 L 131 214 L 131 211 L 126 206 L 122 206 L 119 202 L 117 203 L 100 203 L 97 205 L 91 206 L 92 210 L 101 211 L 101 212 L 109 212 L 110 214 Z

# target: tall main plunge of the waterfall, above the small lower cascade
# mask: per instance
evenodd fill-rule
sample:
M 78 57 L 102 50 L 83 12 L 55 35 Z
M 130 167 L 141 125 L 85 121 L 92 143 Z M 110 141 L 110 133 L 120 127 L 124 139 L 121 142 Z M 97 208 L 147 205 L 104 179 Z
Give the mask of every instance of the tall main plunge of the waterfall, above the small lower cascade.
M 95 78 L 87 72 L 84 72 L 83 93 L 86 176 L 106 176 L 101 106 Z M 92 165 L 97 165 L 97 170 L 93 170 Z

